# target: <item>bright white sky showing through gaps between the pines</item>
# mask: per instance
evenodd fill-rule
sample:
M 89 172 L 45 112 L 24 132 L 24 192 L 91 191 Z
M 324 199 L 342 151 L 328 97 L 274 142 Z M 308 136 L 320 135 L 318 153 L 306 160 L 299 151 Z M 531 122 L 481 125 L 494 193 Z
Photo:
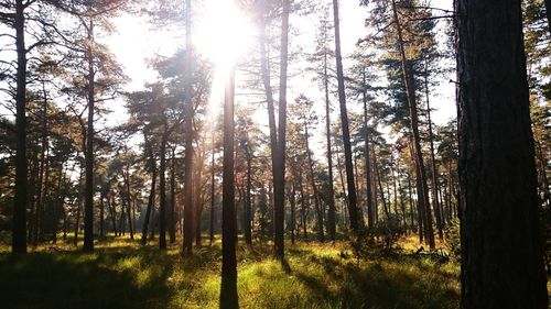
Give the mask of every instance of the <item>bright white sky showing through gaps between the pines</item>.
M 210 8 L 208 3 L 215 3 L 212 8 L 219 7 L 218 4 L 222 3 L 219 0 L 204 1 L 207 1 L 207 11 L 208 8 Z M 368 11 L 366 8 L 359 7 L 358 2 L 358 0 L 341 0 L 339 3 L 342 49 L 345 68 L 349 65 L 346 57 L 354 52 L 356 42 L 366 33 L 365 20 L 368 16 Z M 451 0 L 435 0 L 432 2 L 431 7 L 451 10 Z M 214 36 L 216 32 L 219 32 L 220 30 L 224 31 L 224 21 L 220 20 L 224 15 L 220 14 L 220 12 L 224 13 L 224 11 L 218 11 L 217 13 L 209 14 L 210 18 L 202 16 L 201 20 L 204 20 L 204 23 L 199 22 L 198 27 L 201 27 L 201 30 L 197 30 L 199 33 L 195 36 L 207 37 L 206 40 L 208 41 L 209 37 Z M 435 12 L 435 14 L 439 12 Z M 291 36 L 290 51 L 299 47 L 306 51 L 313 48 L 312 44 L 315 37 L 316 18 L 314 15 L 294 15 L 291 16 L 290 22 L 291 26 L 293 26 L 298 32 L 296 36 Z M 126 86 L 127 90 L 142 89 L 145 81 L 154 80 L 155 74 L 148 67 L 149 58 L 152 58 L 155 54 L 168 56 L 173 53 L 176 47 L 183 46 L 184 44 L 182 35 L 170 31 L 153 30 L 142 16 L 132 16 L 128 14 L 122 15 L 117 18 L 115 25 L 117 32 L 108 37 L 105 37 L 104 41 L 108 44 L 131 79 L 131 81 Z M 238 26 L 238 30 L 244 32 L 244 29 L 247 27 L 250 27 L 250 25 L 241 24 Z M 253 30 L 247 29 L 245 33 L 245 36 L 253 36 Z M 250 43 L 248 40 L 251 38 L 239 37 L 235 40 L 242 41 L 240 43 Z M 216 51 L 216 46 L 209 46 L 210 43 L 208 42 L 201 42 L 198 44 L 206 45 L 206 48 L 204 49 Z M 294 67 L 291 65 L 290 67 L 291 71 L 293 69 L 299 70 L 299 74 L 298 76 L 293 75 L 293 77 L 289 80 L 290 89 L 288 100 L 291 100 L 299 93 L 304 92 L 321 104 L 322 100 L 321 96 L 318 96 L 320 89 L 315 86 L 315 82 L 312 82 L 310 77 L 305 78 L 304 75 L 301 74 L 301 69 L 303 68 L 303 64 L 296 64 Z M 453 77 L 443 77 L 443 82 L 441 82 L 441 85 L 434 90 L 431 98 L 431 106 L 435 109 L 433 113 L 433 121 L 437 124 L 446 123 L 450 119 L 454 118 L 456 112 L 454 104 L 455 90 L 454 85 L 449 82 L 450 79 L 453 79 Z M 237 103 L 239 103 L 239 100 Z M 348 104 L 350 110 L 359 108 L 354 106 L 354 102 L 349 102 Z M 336 106 L 336 103 L 334 103 L 334 106 Z M 111 109 L 114 109 L 117 114 L 125 114 L 123 103 L 121 101 L 114 101 L 111 103 Z M 337 109 L 334 109 L 334 117 L 337 117 L 336 112 Z M 262 122 L 263 119 L 266 119 L 264 113 L 264 110 L 257 112 L 256 118 L 259 119 L 259 122 Z M 123 119 L 125 117 L 116 117 L 112 118 L 111 121 L 121 122 Z

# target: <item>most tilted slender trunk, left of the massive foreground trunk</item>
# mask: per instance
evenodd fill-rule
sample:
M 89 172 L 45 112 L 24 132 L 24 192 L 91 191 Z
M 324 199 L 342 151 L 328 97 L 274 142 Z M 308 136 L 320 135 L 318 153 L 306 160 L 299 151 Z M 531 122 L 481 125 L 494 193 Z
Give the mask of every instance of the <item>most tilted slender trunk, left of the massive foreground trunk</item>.
M 398 18 L 398 10 L 396 8 L 396 1 L 392 0 L 392 12 L 395 15 L 396 29 L 398 32 L 398 46 L 401 56 L 402 63 L 402 79 L 406 86 L 406 96 L 408 98 L 408 104 L 410 110 L 410 124 L 411 124 L 411 133 L 413 137 L 413 157 L 415 161 L 415 175 L 419 179 L 420 191 L 418 191 L 419 203 L 424 209 L 424 218 L 425 218 L 425 233 L 429 240 L 429 246 L 431 250 L 435 249 L 434 243 L 434 231 L 432 229 L 432 212 L 431 205 L 429 202 L 429 187 L 426 186 L 426 173 L 424 170 L 423 164 L 423 154 L 421 151 L 421 137 L 419 134 L 419 119 L 418 119 L 418 110 L 417 110 L 417 100 L 415 100 L 415 91 L 411 85 L 411 76 L 408 71 L 408 60 L 406 58 L 406 48 L 402 37 L 402 29 L 400 19 Z

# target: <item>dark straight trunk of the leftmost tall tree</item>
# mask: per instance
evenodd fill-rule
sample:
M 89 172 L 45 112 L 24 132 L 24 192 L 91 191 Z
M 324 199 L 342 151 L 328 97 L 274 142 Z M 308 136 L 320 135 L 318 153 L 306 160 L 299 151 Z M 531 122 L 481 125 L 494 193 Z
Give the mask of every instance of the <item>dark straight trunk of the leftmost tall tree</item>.
M 15 93 L 15 189 L 13 198 L 12 253 L 26 253 L 26 47 L 25 15 L 22 0 L 15 1 L 15 48 L 18 52 Z

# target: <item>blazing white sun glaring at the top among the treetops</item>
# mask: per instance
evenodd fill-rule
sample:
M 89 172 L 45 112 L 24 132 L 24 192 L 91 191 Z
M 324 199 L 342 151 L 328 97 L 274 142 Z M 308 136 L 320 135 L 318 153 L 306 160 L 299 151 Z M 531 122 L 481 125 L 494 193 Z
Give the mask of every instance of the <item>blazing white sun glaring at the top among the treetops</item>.
M 218 69 L 228 68 L 251 49 L 256 26 L 233 0 L 205 0 L 195 19 L 197 52 Z

